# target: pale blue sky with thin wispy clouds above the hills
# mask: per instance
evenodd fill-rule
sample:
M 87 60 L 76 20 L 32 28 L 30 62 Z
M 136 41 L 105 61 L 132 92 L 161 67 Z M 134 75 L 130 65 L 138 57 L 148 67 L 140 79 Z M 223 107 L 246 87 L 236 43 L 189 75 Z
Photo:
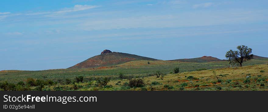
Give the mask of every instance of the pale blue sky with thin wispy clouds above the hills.
M 161 60 L 238 45 L 268 57 L 267 0 L 1 0 L 0 70 L 68 68 L 104 49 Z

